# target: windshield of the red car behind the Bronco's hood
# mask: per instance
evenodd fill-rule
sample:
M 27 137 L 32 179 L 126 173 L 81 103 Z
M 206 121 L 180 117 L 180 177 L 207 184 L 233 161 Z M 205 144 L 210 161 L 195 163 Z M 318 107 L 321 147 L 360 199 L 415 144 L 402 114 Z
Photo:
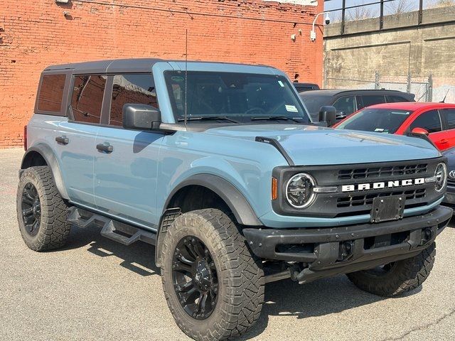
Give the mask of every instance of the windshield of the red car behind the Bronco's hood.
M 365 108 L 338 124 L 335 129 L 352 129 L 394 134 L 412 111 Z

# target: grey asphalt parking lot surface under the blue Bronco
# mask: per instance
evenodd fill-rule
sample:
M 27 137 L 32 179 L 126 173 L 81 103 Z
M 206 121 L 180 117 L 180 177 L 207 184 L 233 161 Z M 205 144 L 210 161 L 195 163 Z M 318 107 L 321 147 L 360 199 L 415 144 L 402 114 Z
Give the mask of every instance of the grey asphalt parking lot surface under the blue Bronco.
M 16 222 L 22 154 L 0 151 L 1 339 L 188 340 L 166 305 L 154 247 L 125 247 L 78 228 L 65 249 L 37 253 L 23 244 Z M 384 299 L 346 276 L 269 283 L 259 322 L 242 340 L 454 340 L 453 227 L 437 239 L 437 261 L 421 289 Z

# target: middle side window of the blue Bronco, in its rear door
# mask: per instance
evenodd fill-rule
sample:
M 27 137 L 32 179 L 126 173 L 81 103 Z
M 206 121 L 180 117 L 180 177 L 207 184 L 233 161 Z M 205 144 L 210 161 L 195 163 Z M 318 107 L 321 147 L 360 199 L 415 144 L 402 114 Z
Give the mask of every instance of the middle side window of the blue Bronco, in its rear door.
M 106 76 L 75 76 L 71 109 L 75 121 L 99 124 L 102 98 L 105 94 Z

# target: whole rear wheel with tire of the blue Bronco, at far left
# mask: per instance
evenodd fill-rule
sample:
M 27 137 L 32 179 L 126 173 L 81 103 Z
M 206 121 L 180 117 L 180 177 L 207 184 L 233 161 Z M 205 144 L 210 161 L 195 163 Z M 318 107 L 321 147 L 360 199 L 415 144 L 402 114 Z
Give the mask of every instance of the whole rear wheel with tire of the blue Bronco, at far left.
M 23 171 L 16 210 L 19 230 L 27 247 L 34 251 L 63 247 L 70 234 L 67 209 L 48 166 Z

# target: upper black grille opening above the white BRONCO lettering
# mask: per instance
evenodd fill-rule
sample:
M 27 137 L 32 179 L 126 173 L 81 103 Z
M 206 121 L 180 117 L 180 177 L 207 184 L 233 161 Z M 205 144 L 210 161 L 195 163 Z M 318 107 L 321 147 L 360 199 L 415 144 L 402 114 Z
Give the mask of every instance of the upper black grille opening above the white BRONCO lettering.
M 338 179 L 366 179 L 366 178 L 383 178 L 387 176 L 397 175 L 412 175 L 427 172 L 427 163 L 385 166 L 385 167 L 370 167 L 370 168 L 354 168 L 341 169 L 338 171 Z

